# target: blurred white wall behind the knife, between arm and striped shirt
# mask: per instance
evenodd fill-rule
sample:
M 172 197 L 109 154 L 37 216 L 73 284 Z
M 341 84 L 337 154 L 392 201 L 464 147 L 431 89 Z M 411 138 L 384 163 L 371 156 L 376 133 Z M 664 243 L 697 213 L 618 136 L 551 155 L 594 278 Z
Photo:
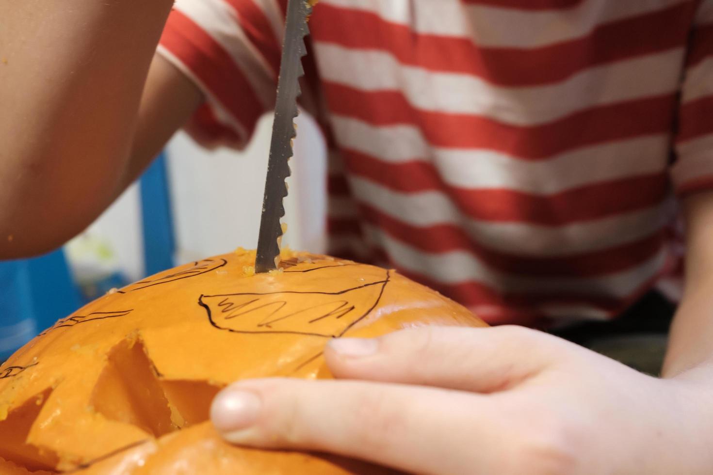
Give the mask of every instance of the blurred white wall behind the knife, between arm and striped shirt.
M 324 141 L 308 115 L 297 119 L 295 155 L 290 160 L 285 200 L 287 235 L 293 249 L 324 251 Z M 200 148 L 185 133 L 167 146 L 176 263 L 255 248 L 270 152 L 272 115 L 262 118 L 242 152 Z M 87 231 L 68 246 L 76 271 L 120 268 L 132 280 L 143 277 L 138 188 L 131 187 Z M 107 252 L 111 257 L 107 258 Z M 104 256 L 100 258 L 97 254 Z

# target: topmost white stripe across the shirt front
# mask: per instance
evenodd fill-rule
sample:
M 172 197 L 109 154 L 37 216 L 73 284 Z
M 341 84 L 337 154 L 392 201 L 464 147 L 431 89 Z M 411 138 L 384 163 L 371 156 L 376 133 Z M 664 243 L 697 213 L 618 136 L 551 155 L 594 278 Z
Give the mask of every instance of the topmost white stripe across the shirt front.
M 587 36 L 597 26 L 689 0 L 586 0 L 571 9 L 531 11 L 497 6 L 464 6 L 459 0 L 322 0 L 369 11 L 418 33 L 472 38 L 478 46 L 538 48 Z M 414 4 L 411 8 L 410 4 Z

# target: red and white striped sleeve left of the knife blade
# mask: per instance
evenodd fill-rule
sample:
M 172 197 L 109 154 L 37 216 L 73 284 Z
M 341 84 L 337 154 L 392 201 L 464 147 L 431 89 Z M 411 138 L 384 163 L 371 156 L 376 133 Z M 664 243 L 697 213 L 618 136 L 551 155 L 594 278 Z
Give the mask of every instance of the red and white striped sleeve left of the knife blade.
M 185 129 L 207 147 L 242 148 L 275 105 L 284 0 L 178 0 L 158 53 L 205 103 Z

